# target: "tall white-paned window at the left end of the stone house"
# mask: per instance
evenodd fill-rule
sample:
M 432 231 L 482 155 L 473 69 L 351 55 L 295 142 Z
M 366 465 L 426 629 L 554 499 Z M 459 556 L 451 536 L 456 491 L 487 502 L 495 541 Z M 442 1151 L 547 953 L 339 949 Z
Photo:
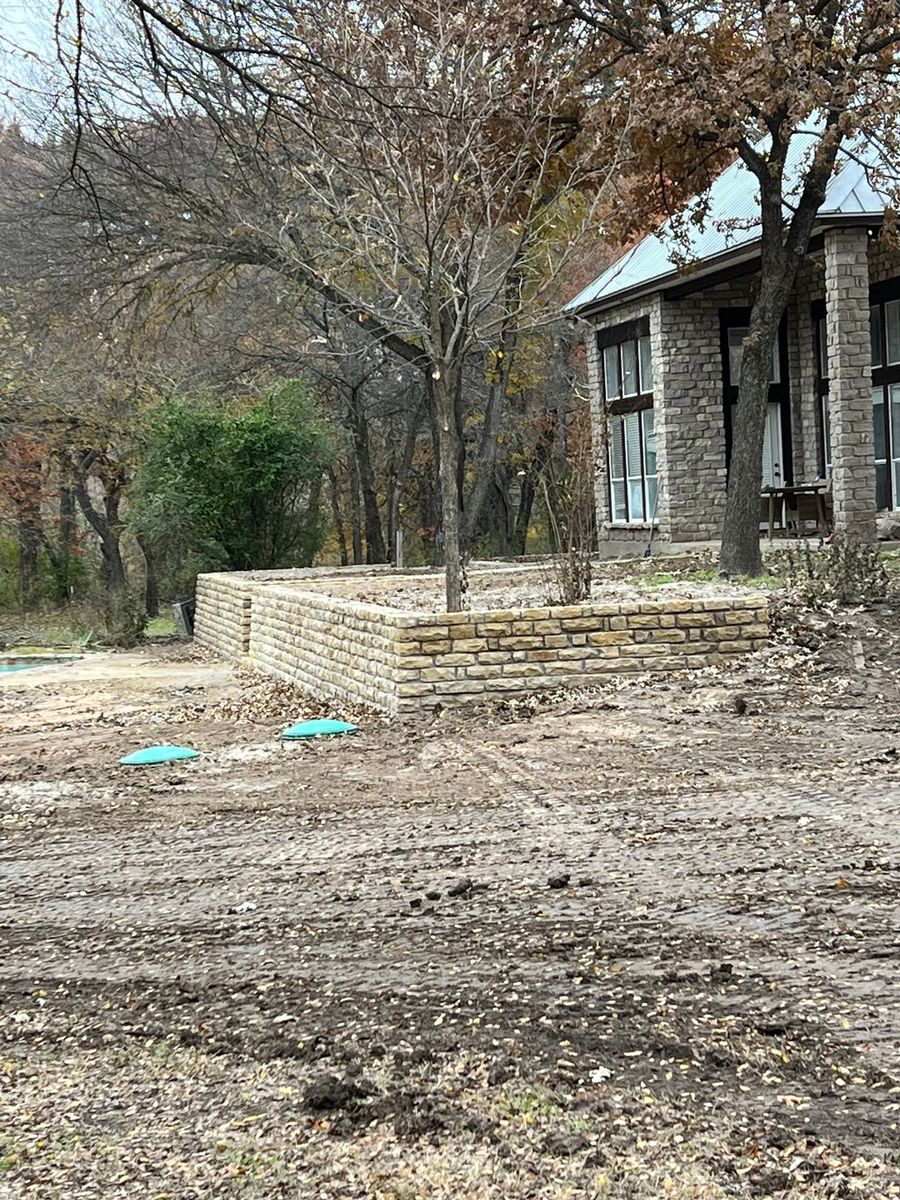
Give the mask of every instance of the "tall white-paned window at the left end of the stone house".
M 601 335 L 608 431 L 610 515 L 616 524 L 656 520 L 653 356 L 646 319 Z

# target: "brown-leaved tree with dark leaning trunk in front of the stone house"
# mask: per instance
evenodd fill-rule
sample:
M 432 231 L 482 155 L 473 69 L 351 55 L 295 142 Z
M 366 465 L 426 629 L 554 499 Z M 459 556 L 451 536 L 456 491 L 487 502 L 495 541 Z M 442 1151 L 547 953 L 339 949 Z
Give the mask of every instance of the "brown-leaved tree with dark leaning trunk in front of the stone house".
M 852 154 L 856 139 L 874 139 L 900 161 L 896 4 L 554 0 L 546 10 L 548 20 L 560 13 L 586 77 L 617 64 L 616 95 L 631 114 L 634 149 L 658 181 L 643 193 L 646 220 L 671 212 L 734 157 L 758 187 L 762 272 L 740 362 L 720 558 L 726 575 L 758 575 L 772 355 L 816 214 L 840 152 Z M 809 148 L 798 156 L 804 132 Z M 702 196 L 691 216 L 702 222 Z

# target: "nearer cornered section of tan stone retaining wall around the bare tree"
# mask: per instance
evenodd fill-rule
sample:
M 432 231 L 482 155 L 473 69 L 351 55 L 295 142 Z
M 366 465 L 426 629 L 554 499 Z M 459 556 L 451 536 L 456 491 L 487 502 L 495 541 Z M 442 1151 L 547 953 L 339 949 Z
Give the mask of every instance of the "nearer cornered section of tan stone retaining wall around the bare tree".
M 768 638 L 758 594 L 409 613 L 335 590 L 344 588 L 254 587 L 251 665 L 316 695 L 397 714 L 709 666 Z

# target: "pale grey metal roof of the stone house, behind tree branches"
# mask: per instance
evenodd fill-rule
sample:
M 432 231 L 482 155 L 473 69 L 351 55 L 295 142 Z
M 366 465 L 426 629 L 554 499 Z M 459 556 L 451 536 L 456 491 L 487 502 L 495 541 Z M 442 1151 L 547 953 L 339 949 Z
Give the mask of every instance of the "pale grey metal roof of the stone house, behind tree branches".
M 791 140 L 785 178 L 786 199 L 799 193 L 802 167 L 816 145 L 816 133 L 797 133 Z M 881 173 L 881 178 L 876 178 Z M 842 155 L 832 176 L 826 199 L 818 210 L 823 223 L 839 217 L 881 220 L 890 188 L 884 184 L 888 167 L 874 145 L 856 144 Z M 700 223 L 692 214 L 706 212 Z M 790 208 L 785 206 L 785 216 Z M 715 180 L 709 191 L 696 197 L 677 217 L 666 221 L 623 254 L 599 278 L 565 306 L 565 312 L 604 308 L 628 294 L 655 292 L 685 269 L 714 268 L 720 259 L 751 258 L 760 241 L 760 191 L 756 176 L 737 160 Z M 744 252 L 742 254 L 742 251 Z

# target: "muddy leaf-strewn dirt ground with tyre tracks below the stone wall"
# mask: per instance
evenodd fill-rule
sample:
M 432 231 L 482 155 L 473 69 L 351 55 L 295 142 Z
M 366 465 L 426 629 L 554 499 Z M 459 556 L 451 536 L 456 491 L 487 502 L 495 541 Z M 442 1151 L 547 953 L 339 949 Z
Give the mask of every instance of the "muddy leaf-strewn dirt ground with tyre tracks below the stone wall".
M 792 636 L 313 744 L 2 679 L 0 1196 L 900 1195 L 900 622 Z

